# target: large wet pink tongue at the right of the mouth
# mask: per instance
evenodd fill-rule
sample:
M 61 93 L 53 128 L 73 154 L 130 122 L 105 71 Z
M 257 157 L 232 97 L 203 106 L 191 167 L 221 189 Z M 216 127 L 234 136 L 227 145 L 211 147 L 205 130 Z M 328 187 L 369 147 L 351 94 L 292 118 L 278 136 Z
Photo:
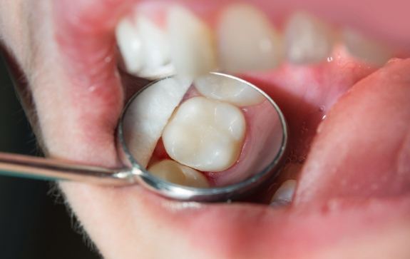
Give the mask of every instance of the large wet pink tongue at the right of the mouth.
M 319 126 L 295 204 L 410 193 L 410 59 L 356 83 Z

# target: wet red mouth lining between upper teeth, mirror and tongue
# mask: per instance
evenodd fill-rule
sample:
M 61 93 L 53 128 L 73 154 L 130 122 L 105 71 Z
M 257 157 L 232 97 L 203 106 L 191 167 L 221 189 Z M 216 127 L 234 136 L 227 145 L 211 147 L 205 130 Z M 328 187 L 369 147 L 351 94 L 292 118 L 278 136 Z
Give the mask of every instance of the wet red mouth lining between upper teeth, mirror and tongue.
M 376 70 L 357 63 L 342 49 L 332 56 L 338 58 L 319 65 L 285 64 L 268 73 L 242 75 L 265 91 L 284 113 L 289 126 L 288 163 L 304 163 L 329 109 L 354 83 Z

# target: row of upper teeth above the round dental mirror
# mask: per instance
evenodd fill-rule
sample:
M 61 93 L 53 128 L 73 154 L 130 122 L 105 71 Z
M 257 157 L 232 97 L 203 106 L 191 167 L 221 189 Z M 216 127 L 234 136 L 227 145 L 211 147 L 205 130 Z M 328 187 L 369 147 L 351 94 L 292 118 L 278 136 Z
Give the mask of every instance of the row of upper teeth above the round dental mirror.
M 224 9 L 215 31 L 181 6 L 168 9 L 166 26 L 137 11 L 118 24 L 116 37 L 128 72 L 148 78 L 175 72 L 196 78 L 218 69 L 228 73 L 268 70 L 283 59 L 317 64 L 331 55 L 336 39 L 351 54 L 375 65 L 393 56 L 389 47 L 357 31 L 343 28 L 339 33 L 303 12 L 290 16 L 280 33 L 262 11 L 247 4 Z

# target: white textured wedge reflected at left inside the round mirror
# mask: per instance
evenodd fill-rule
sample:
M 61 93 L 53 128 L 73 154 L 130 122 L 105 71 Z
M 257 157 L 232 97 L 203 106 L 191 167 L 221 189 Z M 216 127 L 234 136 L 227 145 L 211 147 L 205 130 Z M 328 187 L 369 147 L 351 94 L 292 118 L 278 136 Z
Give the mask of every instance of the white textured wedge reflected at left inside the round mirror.
M 190 81 L 167 78 L 146 88 L 130 104 L 123 121 L 124 138 L 138 163 L 148 165 L 163 128 L 190 87 Z

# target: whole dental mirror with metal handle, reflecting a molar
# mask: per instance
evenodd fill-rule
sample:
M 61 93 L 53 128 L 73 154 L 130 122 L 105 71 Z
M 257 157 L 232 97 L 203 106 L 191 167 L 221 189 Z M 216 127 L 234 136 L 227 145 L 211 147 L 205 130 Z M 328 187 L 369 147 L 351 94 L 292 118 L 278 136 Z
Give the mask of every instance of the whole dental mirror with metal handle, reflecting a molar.
M 135 93 L 118 123 L 126 168 L 0 153 L 0 173 L 108 186 L 140 183 L 168 198 L 241 197 L 277 175 L 287 125 L 277 104 L 235 76 L 170 76 Z

